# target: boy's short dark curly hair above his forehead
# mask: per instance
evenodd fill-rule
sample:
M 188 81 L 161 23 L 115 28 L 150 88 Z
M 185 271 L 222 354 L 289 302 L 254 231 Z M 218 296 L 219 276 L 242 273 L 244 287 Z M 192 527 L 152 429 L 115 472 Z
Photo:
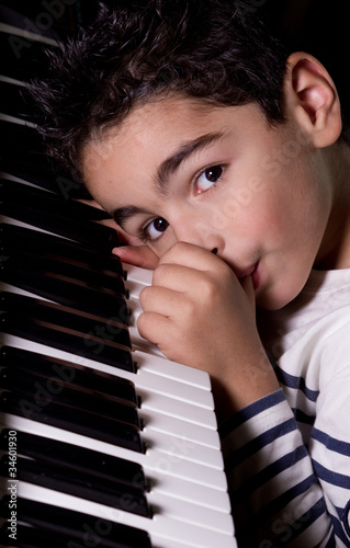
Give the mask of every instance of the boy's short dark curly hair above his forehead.
M 216 105 L 255 102 L 269 123 L 283 121 L 290 52 L 234 1 L 121 0 L 99 8 L 79 38 L 48 52 L 47 79 L 31 85 L 47 150 L 76 175 L 87 142 L 170 92 Z

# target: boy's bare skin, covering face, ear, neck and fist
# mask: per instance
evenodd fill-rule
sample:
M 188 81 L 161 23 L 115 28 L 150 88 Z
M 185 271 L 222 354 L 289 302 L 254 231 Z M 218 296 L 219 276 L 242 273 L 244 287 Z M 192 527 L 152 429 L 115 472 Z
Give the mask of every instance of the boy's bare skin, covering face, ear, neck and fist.
M 131 246 L 115 253 L 155 269 L 140 295 L 140 334 L 210 373 L 219 419 L 279 388 L 256 306 L 285 306 L 315 265 L 350 266 L 338 95 L 307 54 L 289 59 L 283 112 L 271 127 L 253 104 L 169 95 L 135 109 L 83 153 L 89 191 L 116 212 Z M 159 173 L 166 160 L 173 169 Z

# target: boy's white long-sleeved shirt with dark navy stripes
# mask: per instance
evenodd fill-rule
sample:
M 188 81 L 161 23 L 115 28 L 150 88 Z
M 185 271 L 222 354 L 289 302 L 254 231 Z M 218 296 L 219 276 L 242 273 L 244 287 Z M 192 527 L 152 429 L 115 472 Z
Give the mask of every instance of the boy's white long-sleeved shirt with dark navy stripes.
M 260 323 L 281 389 L 221 425 L 238 545 L 350 547 L 350 270 Z

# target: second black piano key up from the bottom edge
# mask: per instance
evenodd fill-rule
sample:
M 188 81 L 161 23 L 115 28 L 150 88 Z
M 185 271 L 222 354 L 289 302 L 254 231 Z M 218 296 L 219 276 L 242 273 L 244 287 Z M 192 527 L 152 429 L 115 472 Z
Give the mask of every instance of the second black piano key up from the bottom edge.
M 0 473 L 7 477 L 9 457 L 3 455 Z M 80 499 L 105 504 L 124 512 L 150 517 L 150 509 L 145 494 L 129 486 L 121 486 L 103 478 L 95 478 L 78 470 L 69 470 L 63 466 L 16 457 L 16 477 L 46 489 L 64 492 Z

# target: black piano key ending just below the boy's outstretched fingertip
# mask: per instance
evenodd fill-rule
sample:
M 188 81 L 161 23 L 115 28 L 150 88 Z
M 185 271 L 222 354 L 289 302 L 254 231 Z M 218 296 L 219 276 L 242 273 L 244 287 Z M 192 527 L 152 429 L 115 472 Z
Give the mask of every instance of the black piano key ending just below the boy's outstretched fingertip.
M 76 261 L 97 272 L 110 272 L 125 278 L 118 256 L 98 252 L 94 248 L 30 228 L 1 222 L 0 247 L 3 254 L 10 254 L 14 249 L 27 249 L 33 254 L 52 253 L 55 256 Z

